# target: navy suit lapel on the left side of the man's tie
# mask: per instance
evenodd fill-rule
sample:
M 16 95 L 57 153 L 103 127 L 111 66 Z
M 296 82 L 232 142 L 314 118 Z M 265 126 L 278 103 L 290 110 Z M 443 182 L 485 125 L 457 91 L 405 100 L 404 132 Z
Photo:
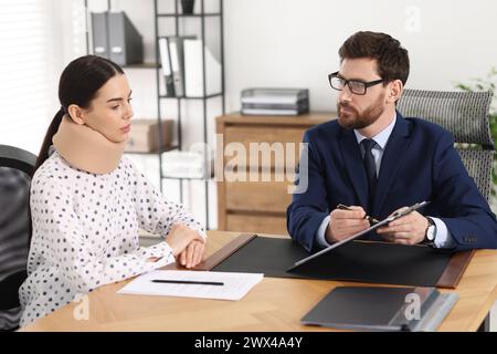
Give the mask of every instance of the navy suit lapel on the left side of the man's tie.
M 364 165 L 362 163 L 361 152 L 357 144 L 356 135 L 352 129 L 343 129 L 339 140 L 341 156 L 352 181 L 355 191 L 364 210 L 368 206 L 368 180 L 366 178 Z

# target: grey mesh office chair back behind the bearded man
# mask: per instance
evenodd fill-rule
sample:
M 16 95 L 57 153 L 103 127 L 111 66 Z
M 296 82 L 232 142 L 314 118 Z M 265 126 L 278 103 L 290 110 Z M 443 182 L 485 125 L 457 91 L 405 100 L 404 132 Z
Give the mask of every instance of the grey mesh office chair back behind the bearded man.
M 489 129 L 491 96 L 491 92 L 405 90 L 396 105 L 403 116 L 424 118 L 454 134 L 456 150 L 487 201 L 495 153 Z

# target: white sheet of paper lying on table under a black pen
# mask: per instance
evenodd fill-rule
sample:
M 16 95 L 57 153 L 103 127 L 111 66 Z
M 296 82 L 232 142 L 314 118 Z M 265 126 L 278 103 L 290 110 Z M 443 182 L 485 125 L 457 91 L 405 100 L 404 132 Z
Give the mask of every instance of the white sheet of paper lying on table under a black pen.
M 119 294 L 240 300 L 262 279 L 262 273 L 155 270 L 120 289 Z M 223 285 L 155 283 L 152 280 L 223 282 Z

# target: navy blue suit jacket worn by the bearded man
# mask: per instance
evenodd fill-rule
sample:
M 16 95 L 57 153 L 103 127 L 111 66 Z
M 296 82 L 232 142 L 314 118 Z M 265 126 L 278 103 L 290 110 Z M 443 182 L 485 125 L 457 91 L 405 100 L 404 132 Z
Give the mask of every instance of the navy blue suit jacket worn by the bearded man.
M 287 209 L 292 238 L 309 252 L 318 249 L 316 232 L 338 204 L 362 206 L 381 220 L 401 207 L 430 200 L 420 212 L 445 222 L 456 250 L 497 248 L 495 215 L 454 149 L 453 135 L 424 119 L 403 118 L 399 112 L 396 117 L 371 210 L 367 208 L 368 181 L 353 131 L 330 121 L 305 133 L 308 188 L 294 194 Z M 303 162 L 300 158 L 299 179 L 306 168 Z M 374 232 L 367 239 L 381 240 Z

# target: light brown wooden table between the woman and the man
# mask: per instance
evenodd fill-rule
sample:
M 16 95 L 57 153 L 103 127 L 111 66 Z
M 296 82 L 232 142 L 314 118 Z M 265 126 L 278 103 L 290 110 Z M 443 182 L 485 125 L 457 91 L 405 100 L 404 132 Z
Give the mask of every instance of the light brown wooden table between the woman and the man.
M 208 256 L 239 233 L 211 231 Z M 129 280 L 88 295 L 88 320 L 71 303 L 23 331 L 329 331 L 299 324 L 331 289 L 350 282 L 265 278 L 241 301 L 123 295 Z M 356 285 L 358 283 L 355 283 Z M 476 331 L 497 298 L 497 251 L 478 250 L 455 291 L 461 299 L 440 331 Z M 442 290 L 447 292 L 450 290 Z

